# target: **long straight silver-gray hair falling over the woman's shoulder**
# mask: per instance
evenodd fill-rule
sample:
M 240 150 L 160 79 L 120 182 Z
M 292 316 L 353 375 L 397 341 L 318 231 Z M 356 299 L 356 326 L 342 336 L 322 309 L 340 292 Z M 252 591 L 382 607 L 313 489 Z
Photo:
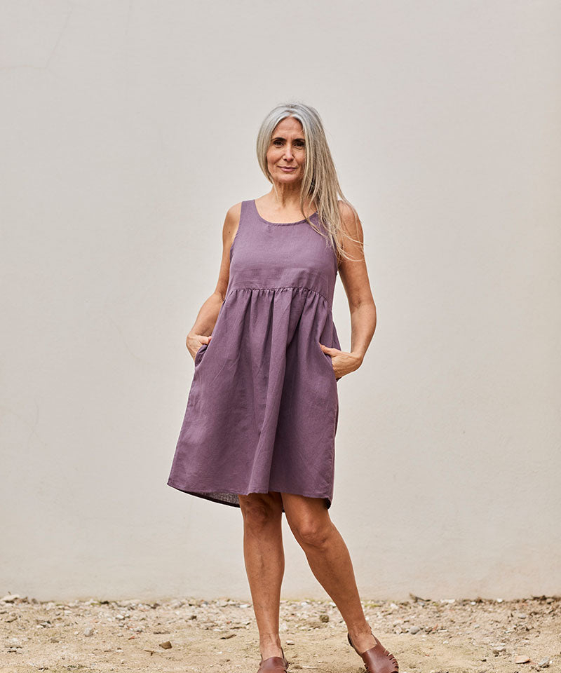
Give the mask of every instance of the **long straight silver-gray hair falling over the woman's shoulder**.
M 343 237 L 355 241 L 360 245 L 361 252 L 364 252 L 362 240 L 352 238 L 344 231 L 341 212 L 339 211 L 338 196 L 346 205 L 351 208 L 355 224 L 360 222 L 358 212 L 351 203 L 343 196 L 337 171 L 333 163 L 331 151 L 327 144 L 323 123 L 318 111 L 301 102 L 289 102 L 277 105 L 264 118 L 259 133 L 257 134 L 257 161 L 263 171 L 266 179 L 275 184 L 271 179 L 271 174 L 267 168 L 266 154 L 271 144 L 271 137 L 276 125 L 286 117 L 294 117 L 302 124 L 304 139 L 306 140 L 306 161 L 304 163 L 304 177 L 300 189 L 300 209 L 304 214 L 304 205 L 306 200 L 311 200 L 318 208 L 318 219 L 323 231 L 314 226 L 309 217 L 306 222 L 324 238 L 330 241 L 337 259 L 344 257 L 352 259 L 344 250 Z

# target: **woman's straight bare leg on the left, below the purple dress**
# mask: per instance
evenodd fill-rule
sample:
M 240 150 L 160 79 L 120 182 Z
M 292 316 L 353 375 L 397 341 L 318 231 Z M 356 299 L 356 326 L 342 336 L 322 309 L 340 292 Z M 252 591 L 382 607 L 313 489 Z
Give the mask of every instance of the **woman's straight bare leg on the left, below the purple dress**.
M 273 492 L 250 493 L 239 499 L 245 571 L 259 630 L 259 649 L 264 659 L 280 657 L 278 613 L 285 570 L 283 501 L 280 494 Z

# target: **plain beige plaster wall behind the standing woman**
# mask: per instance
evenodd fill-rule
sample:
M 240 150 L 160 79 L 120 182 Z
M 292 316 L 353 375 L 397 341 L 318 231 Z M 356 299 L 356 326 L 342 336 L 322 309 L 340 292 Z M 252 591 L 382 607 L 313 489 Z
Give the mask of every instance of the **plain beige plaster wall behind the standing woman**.
M 249 597 L 240 510 L 166 485 L 259 123 L 323 116 L 378 327 L 339 382 L 363 598 L 561 591 L 554 1 L 4 0 L 0 594 Z M 350 348 L 337 281 L 334 319 Z M 326 597 L 288 524 L 283 597 Z

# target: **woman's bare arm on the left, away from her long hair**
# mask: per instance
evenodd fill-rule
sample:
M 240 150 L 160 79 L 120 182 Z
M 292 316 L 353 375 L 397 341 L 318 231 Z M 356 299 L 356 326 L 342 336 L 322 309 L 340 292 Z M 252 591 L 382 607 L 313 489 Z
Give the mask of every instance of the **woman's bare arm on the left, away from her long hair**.
M 230 247 L 238 231 L 240 222 L 241 202 L 233 205 L 227 212 L 222 227 L 222 261 L 218 274 L 215 291 L 206 299 L 198 311 L 195 323 L 187 334 L 187 350 L 194 358 L 203 344 L 209 344 L 212 339 L 212 330 L 215 327 L 220 306 L 226 297 L 226 290 L 230 277 Z

